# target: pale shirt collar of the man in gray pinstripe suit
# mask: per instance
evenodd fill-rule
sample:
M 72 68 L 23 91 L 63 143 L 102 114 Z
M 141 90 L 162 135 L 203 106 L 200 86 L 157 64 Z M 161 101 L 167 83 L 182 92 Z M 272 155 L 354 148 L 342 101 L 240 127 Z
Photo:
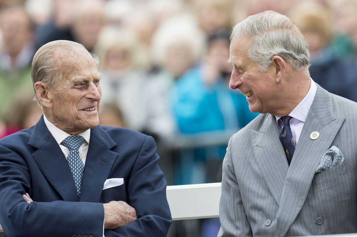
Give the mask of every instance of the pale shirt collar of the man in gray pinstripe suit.
M 309 113 L 313 99 L 315 98 L 316 89 L 317 89 L 316 83 L 312 80 L 312 78 L 310 78 L 310 80 L 311 80 L 311 85 L 309 91 L 307 92 L 305 97 L 301 100 L 301 102 L 289 114 L 290 117 L 300 120 L 301 122 L 304 123 L 307 114 Z M 275 116 L 275 118 L 276 118 L 276 122 L 278 122 L 278 120 L 281 117 Z

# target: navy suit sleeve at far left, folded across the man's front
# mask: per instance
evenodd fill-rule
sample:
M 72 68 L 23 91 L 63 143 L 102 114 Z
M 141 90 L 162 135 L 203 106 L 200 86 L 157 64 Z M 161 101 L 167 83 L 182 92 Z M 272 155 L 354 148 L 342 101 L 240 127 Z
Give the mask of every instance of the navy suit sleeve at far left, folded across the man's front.
M 18 152 L 0 146 L 0 223 L 11 237 L 66 237 L 103 234 L 104 207 L 90 202 L 25 202 L 31 174 Z

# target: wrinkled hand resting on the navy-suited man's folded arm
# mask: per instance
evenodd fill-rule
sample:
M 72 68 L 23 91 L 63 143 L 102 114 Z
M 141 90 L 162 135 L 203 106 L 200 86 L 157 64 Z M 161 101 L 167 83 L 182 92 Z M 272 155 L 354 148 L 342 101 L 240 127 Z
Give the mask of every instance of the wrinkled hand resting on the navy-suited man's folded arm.
M 25 199 L 26 200 L 26 199 Z M 116 229 L 137 219 L 136 210 L 123 201 L 104 203 L 104 229 Z

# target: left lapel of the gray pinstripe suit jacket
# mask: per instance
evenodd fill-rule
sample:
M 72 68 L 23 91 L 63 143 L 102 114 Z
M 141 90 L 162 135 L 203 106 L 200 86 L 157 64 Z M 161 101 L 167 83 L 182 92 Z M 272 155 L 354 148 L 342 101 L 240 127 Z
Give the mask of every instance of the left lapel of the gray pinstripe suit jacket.
M 280 205 L 288 163 L 279 140 L 275 116 L 267 114 L 259 131 L 251 130 L 253 151 L 267 186 Z M 273 144 L 273 145 L 272 145 Z

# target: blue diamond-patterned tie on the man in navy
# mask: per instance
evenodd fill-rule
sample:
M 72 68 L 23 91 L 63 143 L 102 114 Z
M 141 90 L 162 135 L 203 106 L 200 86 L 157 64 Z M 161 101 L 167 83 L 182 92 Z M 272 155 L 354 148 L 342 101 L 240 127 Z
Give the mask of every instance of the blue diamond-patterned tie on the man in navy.
M 72 135 L 63 140 L 62 144 L 67 147 L 70 152 L 67 156 L 67 162 L 71 168 L 74 182 L 76 183 L 78 198 L 81 196 L 81 183 L 84 164 L 79 157 L 79 147 L 83 143 L 84 138 L 78 135 Z

